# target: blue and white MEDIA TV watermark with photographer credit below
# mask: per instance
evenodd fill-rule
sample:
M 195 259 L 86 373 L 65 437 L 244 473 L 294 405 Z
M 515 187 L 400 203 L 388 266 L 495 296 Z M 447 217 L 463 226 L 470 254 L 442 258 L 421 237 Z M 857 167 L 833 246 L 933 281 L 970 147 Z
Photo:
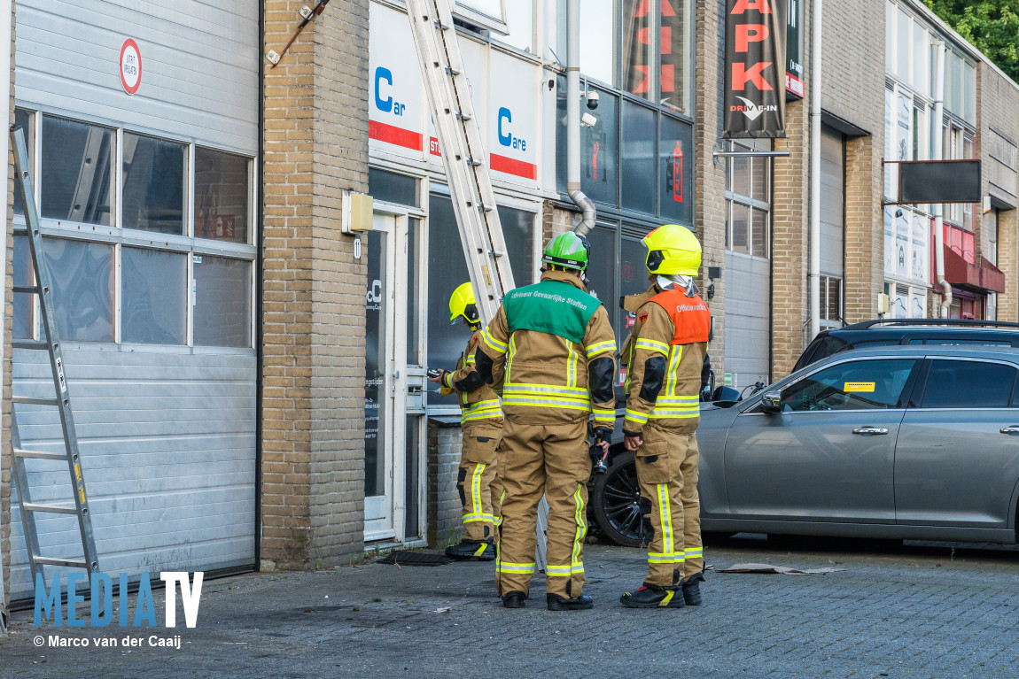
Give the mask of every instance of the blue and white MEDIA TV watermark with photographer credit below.
M 183 606 L 184 611 L 184 623 L 189 628 L 193 628 L 198 623 L 198 609 L 199 604 L 202 599 L 202 581 L 205 578 L 205 573 L 197 572 L 194 573 L 194 578 L 190 576 L 192 573 L 186 572 L 164 572 L 159 574 L 159 579 L 166 583 L 166 615 L 165 615 L 165 627 L 173 628 L 177 626 L 177 585 L 180 586 L 180 603 Z M 78 585 L 81 583 L 88 582 L 89 576 L 85 573 L 68 573 L 66 576 L 67 581 L 67 611 L 66 616 L 63 614 L 62 598 L 61 598 L 61 574 L 56 573 L 53 575 L 53 580 L 49 587 L 46 586 L 46 581 L 43 580 L 41 573 L 36 575 L 36 611 L 35 611 L 35 621 L 36 627 L 42 626 L 44 621 L 53 621 L 54 627 L 61 627 L 66 624 L 67 627 L 107 627 L 113 623 L 113 578 L 106 573 L 93 573 L 92 584 L 89 587 L 90 593 L 92 596 L 89 612 L 90 615 L 88 619 L 84 617 L 85 611 L 85 597 L 78 593 Z M 135 613 L 131 615 L 131 600 L 130 595 L 127 589 L 128 576 L 127 573 L 120 573 L 117 576 L 117 595 L 120 599 L 120 610 L 117 615 L 117 624 L 120 627 L 158 627 L 159 620 L 156 618 L 156 601 L 152 596 L 152 581 L 149 578 L 148 573 L 142 573 L 138 583 L 138 592 L 135 595 L 133 609 Z M 83 614 L 83 617 L 78 617 L 78 613 Z M 150 637 L 154 638 L 154 637 Z M 52 643 L 53 639 L 57 639 L 60 643 Z M 42 642 L 40 642 L 42 640 Z M 106 643 L 105 645 L 118 645 L 116 642 L 118 639 L 115 637 L 109 637 L 106 639 L 98 639 L 99 641 L 113 641 L 114 643 Z M 124 637 L 125 642 L 130 641 L 129 644 L 125 645 L 142 645 L 142 639 L 131 639 L 130 637 Z M 162 639 L 167 641 L 167 639 Z M 81 637 L 73 639 L 61 639 L 58 637 L 51 637 L 50 645 L 90 645 L 90 639 Z M 175 637 L 176 646 L 179 647 L 180 637 Z M 41 646 L 46 642 L 42 636 L 37 636 L 35 638 L 37 646 Z M 170 643 L 156 643 L 152 645 L 170 645 Z

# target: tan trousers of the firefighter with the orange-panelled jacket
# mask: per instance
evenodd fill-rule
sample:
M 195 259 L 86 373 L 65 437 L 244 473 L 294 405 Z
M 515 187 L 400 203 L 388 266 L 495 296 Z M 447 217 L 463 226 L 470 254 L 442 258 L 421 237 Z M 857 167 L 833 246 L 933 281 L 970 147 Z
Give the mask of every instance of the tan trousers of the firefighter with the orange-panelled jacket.
M 653 420 L 637 449 L 641 504 L 654 530 L 648 545 L 647 584 L 671 587 L 704 570 L 697 495 L 697 439 Z

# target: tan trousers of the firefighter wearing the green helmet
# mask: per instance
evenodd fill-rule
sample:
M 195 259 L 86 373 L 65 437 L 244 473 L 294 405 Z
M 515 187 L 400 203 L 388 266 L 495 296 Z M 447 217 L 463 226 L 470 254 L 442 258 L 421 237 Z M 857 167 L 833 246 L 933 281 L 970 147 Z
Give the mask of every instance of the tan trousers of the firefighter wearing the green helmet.
M 548 501 L 546 591 L 567 599 L 581 596 L 591 476 L 588 449 L 586 420 L 528 425 L 505 418 L 498 453 L 505 491 L 495 557 L 499 596 L 530 590 L 542 495 Z

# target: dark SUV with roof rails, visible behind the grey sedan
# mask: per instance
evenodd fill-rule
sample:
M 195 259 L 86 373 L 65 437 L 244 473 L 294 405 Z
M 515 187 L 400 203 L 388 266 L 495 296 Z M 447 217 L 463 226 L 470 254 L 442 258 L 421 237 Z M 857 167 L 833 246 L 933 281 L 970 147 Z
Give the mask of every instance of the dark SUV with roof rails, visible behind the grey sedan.
M 855 323 L 819 332 L 804 349 L 793 372 L 840 351 L 894 344 L 1019 347 L 1019 323 L 967 319 L 895 319 Z

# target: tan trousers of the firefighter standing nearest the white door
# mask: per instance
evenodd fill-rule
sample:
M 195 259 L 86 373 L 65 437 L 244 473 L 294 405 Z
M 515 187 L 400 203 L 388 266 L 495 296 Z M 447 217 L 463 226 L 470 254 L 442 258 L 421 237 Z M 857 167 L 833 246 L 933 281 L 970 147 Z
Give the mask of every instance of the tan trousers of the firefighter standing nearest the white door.
M 502 437 L 502 420 L 468 422 L 464 425 L 463 437 L 457 490 L 464 507 L 464 539 L 494 543 L 498 539 L 496 527 L 500 523 L 502 498 L 495 449 Z

